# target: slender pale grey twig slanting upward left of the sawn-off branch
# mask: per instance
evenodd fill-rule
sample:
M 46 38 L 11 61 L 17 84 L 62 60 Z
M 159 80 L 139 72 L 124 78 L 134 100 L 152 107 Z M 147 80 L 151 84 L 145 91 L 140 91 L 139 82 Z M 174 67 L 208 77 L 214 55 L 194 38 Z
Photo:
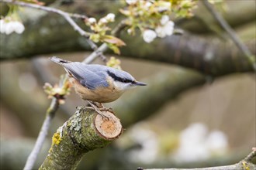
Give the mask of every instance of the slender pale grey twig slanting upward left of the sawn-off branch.
M 26 160 L 26 165 L 24 167 L 24 170 L 30 170 L 33 168 L 33 165 L 36 162 L 36 158 L 41 148 L 43 147 L 43 141 L 47 137 L 48 129 L 50 128 L 50 123 L 53 120 L 58 107 L 59 107 L 59 102 L 57 101 L 57 98 L 54 97 L 53 100 L 51 100 L 50 107 L 47 109 L 47 116 L 43 121 L 40 134 L 36 139 L 36 144 L 33 147 L 33 150 L 31 151 L 29 157 Z

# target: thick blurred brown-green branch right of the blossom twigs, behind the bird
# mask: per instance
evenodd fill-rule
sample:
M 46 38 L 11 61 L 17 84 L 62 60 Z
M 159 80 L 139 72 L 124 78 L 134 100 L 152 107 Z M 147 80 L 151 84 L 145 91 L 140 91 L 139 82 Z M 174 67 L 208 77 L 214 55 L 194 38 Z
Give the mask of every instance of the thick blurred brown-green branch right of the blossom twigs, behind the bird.
M 182 36 L 169 36 L 151 44 L 134 37 L 126 37 L 125 40 L 129 46 L 123 47 L 121 52 L 132 58 L 185 66 L 209 76 L 254 71 L 251 62 L 244 59 L 243 53 L 233 43 L 219 39 L 201 38 L 185 32 Z M 134 50 L 138 46 L 140 50 Z M 255 39 L 248 43 L 248 47 L 256 53 Z

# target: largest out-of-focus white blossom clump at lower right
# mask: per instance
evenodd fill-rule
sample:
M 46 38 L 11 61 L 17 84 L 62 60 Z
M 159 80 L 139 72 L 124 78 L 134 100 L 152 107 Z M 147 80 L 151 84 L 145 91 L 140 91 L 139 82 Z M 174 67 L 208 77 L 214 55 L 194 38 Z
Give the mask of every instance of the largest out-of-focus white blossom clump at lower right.
M 227 135 L 209 131 L 206 124 L 191 124 L 179 136 L 179 147 L 171 158 L 177 162 L 198 162 L 213 155 L 223 155 L 228 148 Z

